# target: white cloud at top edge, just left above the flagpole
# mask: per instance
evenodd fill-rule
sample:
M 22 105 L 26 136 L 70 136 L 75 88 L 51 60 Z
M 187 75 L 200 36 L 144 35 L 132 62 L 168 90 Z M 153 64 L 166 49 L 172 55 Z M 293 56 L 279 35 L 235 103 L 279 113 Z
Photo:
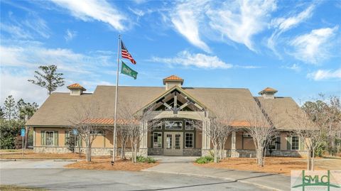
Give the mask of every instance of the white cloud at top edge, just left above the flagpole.
M 70 11 L 72 16 L 82 21 L 102 21 L 109 23 L 117 31 L 125 31 L 124 21 L 126 16 L 107 1 L 69 1 L 69 0 L 51 0 L 53 3 Z

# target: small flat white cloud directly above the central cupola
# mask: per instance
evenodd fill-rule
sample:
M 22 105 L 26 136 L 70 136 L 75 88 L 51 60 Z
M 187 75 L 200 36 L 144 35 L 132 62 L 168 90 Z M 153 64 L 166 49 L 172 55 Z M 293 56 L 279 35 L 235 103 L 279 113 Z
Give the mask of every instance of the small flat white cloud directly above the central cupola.
M 205 69 L 215 69 L 215 68 L 231 68 L 232 65 L 223 62 L 217 56 L 210 56 L 205 54 L 194 54 L 189 53 L 187 50 L 183 50 L 178 53 L 174 58 L 158 58 L 153 57 L 151 62 L 161 62 L 169 65 L 183 65 L 183 66 L 194 66 Z

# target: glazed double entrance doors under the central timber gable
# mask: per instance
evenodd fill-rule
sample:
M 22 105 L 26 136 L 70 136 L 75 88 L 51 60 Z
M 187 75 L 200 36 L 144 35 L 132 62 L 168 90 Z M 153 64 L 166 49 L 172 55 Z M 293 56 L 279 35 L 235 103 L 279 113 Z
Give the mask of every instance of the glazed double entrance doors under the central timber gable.
M 165 132 L 164 155 L 183 155 L 183 133 Z

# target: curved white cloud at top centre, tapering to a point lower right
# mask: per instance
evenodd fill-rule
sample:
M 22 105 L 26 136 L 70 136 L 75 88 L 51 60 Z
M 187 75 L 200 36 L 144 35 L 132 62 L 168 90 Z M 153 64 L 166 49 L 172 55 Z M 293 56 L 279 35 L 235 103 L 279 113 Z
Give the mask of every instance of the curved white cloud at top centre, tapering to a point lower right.
M 200 22 L 202 12 L 205 10 L 206 1 L 188 1 L 178 4 L 171 13 L 171 22 L 174 28 L 190 43 L 201 48 L 207 53 L 211 50 L 200 38 Z

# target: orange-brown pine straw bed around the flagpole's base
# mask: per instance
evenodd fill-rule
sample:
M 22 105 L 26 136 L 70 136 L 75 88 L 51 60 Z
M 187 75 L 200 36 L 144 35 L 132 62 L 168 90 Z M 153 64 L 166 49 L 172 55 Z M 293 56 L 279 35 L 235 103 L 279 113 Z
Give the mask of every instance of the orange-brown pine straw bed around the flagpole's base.
M 139 171 L 146 168 L 151 168 L 158 163 L 132 163 L 131 160 L 121 160 L 117 161 L 112 165 L 110 163 L 112 158 L 93 158 L 92 162 L 87 163 L 87 161 L 79 161 L 77 163 L 72 163 L 65 165 L 65 168 L 77 168 L 77 169 L 87 169 L 87 170 L 129 170 L 129 171 Z

